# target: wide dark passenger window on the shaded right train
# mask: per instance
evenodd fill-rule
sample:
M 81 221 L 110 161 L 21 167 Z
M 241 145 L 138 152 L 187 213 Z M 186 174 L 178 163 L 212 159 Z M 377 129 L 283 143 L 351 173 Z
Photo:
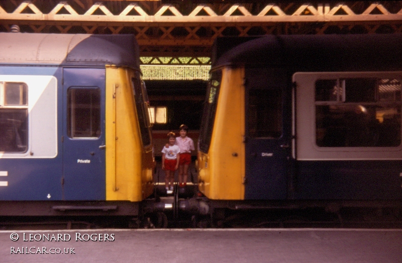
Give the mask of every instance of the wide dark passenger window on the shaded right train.
M 316 81 L 316 143 L 320 147 L 396 147 L 401 143 L 401 80 Z

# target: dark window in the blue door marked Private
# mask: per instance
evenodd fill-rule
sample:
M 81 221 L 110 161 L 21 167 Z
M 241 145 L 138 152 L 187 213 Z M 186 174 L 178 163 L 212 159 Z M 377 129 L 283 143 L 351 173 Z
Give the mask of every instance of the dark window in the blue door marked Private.
M 67 105 L 68 137 L 98 138 L 100 136 L 100 89 L 69 88 Z

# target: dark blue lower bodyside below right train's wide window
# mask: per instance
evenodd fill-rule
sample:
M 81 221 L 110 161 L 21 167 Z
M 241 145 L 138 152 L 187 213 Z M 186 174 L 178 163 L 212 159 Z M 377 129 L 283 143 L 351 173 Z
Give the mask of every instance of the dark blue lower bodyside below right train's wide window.
M 300 161 L 295 199 L 402 200 L 402 161 Z

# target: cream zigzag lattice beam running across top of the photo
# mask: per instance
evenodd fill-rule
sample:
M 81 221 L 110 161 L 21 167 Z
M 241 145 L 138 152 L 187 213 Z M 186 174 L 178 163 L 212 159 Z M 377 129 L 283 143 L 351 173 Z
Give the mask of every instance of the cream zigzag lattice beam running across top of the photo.
M 23 13 L 30 9 L 31 13 Z M 68 14 L 58 14 L 61 9 Z M 371 14 L 374 10 L 375 14 Z M 102 11 L 103 15 L 95 14 Z M 137 15 L 129 15 L 135 10 Z M 268 14 L 270 11 L 274 14 Z M 170 15 L 165 15 L 170 11 Z M 198 15 L 204 11 L 207 15 Z M 237 12 L 237 13 L 235 13 Z M 339 14 L 342 12 L 342 14 Z M 355 14 L 347 5 L 338 4 L 330 7 L 329 4 L 318 4 L 317 7 L 311 4 L 303 4 L 294 13 L 285 14 L 278 6 L 269 4 L 265 6 L 258 15 L 252 15 L 244 6 L 233 5 L 223 15 L 217 15 L 212 8 L 207 5 L 198 5 L 188 15 L 181 14 L 172 5 L 162 5 L 159 10 L 148 15 L 139 4 L 128 5 L 119 15 L 113 15 L 102 2 L 92 5 L 83 15 L 79 15 L 67 2 L 60 2 L 48 14 L 43 14 L 30 1 L 23 2 L 14 12 L 7 13 L 0 5 L 0 20 L 13 21 L 32 21 L 43 22 L 80 22 L 80 23 L 135 23 L 136 26 L 199 26 L 199 25 L 222 25 L 225 24 L 253 24 L 253 23 L 273 23 L 273 22 L 357 22 L 357 21 L 401 21 L 402 9 L 391 14 L 381 4 L 371 4 L 363 13 Z

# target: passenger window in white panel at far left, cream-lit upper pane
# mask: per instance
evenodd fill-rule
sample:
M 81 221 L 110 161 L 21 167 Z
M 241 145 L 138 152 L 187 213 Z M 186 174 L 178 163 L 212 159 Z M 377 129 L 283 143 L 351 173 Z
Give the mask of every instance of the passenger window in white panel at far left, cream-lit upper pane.
M 28 150 L 28 86 L 0 82 L 0 152 Z

